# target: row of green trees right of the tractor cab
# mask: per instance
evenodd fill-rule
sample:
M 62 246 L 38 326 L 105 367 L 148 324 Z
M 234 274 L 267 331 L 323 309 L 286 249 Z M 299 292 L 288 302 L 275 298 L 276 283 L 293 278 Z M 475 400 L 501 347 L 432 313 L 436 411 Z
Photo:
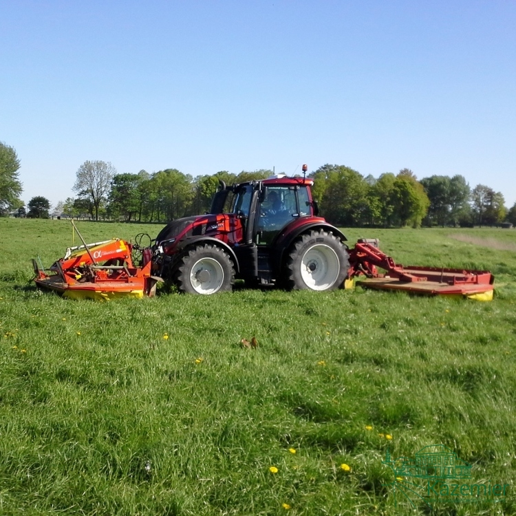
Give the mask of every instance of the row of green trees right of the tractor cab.
M 516 203 L 488 186 L 471 189 L 462 175 L 419 180 L 409 169 L 397 175 L 364 177 L 348 166 L 326 164 L 316 170 L 314 196 L 324 216 L 338 226 L 495 226 L 516 225 Z

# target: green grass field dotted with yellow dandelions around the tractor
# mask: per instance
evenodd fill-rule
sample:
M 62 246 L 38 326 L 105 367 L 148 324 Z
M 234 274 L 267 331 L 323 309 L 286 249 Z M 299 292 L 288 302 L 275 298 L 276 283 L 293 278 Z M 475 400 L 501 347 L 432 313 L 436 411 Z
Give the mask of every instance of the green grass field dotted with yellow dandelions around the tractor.
M 161 226 L 78 227 L 98 241 Z M 0 515 L 515 514 L 516 230 L 345 234 L 405 265 L 491 270 L 495 299 L 67 301 L 32 286 L 30 259 L 61 257 L 69 222 L 0 218 Z M 387 447 L 430 444 L 506 498 L 395 501 Z

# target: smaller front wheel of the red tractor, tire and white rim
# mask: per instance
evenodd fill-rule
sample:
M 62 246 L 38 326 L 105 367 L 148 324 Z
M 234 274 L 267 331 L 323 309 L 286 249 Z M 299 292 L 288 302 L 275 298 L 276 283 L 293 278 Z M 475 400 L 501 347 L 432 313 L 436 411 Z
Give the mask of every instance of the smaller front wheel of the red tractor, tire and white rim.
M 235 268 L 224 249 L 204 244 L 182 255 L 172 279 L 181 292 L 215 294 L 233 288 Z

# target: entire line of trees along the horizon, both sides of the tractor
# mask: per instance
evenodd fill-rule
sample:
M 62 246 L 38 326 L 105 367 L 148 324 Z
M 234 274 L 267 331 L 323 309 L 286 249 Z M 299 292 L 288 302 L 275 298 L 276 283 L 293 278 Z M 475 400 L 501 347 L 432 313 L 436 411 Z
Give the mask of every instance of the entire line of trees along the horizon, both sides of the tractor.
M 51 209 L 43 196 L 25 207 L 19 199 L 19 160 L 0 142 L 0 213 L 47 218 L 50 215 L 165 223 L 206 213 L 219 180 L 226 184 L 261 180 L 272 171 L 219 171 L 196 178 L 178 169 L 117 173 L 109 162 L 86 161 L 76 171 L 76 197 Z M 516 203 L 484 184 L 471 189 L 462 175 L 432 175 L 418 180 L 409 169 L 379 178 L 363 176 L 344 165 L 325 164 L 313 173 L 313 195 L 321 215 L 336 226 L 493 226 L 516 225 Z

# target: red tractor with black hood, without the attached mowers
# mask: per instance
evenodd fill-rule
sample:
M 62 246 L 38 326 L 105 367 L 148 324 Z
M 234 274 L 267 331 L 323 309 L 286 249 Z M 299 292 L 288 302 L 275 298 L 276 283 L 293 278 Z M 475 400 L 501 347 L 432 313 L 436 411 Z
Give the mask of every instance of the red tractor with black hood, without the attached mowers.
M 221 187 L 211 213 L 175 220 L 155 239 L 155 274 L 182 292 L 252 286 L 330 290 L 349 255 L 340 230 L 318 217 L 309 178 L 277 175 Z

